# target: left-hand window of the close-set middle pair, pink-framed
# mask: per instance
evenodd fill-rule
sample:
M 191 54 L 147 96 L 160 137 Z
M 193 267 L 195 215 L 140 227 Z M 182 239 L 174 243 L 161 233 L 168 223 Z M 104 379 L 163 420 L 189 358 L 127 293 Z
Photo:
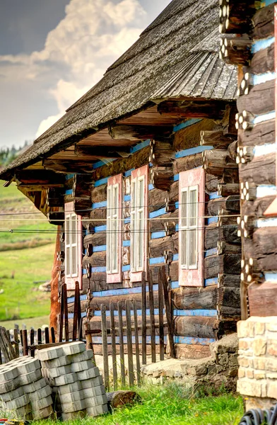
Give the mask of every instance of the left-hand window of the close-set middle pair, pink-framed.
M 107 282 L 122 281 L 122 174 L 107 181 Z

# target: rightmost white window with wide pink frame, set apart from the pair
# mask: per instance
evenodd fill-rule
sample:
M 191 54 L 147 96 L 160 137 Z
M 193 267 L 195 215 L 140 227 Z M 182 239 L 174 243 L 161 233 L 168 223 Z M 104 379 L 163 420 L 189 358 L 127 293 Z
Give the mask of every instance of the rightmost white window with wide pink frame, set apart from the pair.
M 204 285 L 204 170 L 179 174 L 179 285 Z

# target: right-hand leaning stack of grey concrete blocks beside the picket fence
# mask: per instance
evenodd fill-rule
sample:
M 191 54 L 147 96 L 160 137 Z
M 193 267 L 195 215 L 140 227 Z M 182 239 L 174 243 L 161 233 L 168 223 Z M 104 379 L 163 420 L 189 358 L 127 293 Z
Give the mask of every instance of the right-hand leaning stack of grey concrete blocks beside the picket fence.
M 72 342 L 37 352 L 42 375 L 52 387 L 54 406 L 63 419 L 99 416 L 108 411 L 105 387 L 93 352 L 83 342 Z

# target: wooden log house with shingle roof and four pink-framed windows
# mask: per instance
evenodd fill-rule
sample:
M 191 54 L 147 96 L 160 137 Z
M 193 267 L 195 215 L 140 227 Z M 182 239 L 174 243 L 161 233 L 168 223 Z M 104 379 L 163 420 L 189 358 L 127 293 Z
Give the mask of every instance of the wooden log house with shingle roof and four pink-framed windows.
M 158 321 L 166 264 L 178 358 L 209 356 L 240 319 L 237 68 L 219 57 L 219 9 L 218 0 L 173 0 L 1 173 L 61 226 L 71 324 L 76 280 L 82 316 L 89 310 L 90 329 L 101 329 L 101 304 L 136 300 L 139 314 L 143 272 Z M 259 160 L 254 169 L 262 179 Z

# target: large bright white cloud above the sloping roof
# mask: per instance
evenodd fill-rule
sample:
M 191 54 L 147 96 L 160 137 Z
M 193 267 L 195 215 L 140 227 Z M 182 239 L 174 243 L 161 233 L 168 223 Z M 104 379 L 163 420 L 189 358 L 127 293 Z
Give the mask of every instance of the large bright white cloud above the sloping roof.
M 36 136 L 99 81 L 139 37 L 145 22 L 146 11 L 139 0 L 71 0 L 65 18 L 47 35 L 43 50 L 0 56 L 4 84 L 30 86 L 57 104 L 54 114 L 38 126 Z

